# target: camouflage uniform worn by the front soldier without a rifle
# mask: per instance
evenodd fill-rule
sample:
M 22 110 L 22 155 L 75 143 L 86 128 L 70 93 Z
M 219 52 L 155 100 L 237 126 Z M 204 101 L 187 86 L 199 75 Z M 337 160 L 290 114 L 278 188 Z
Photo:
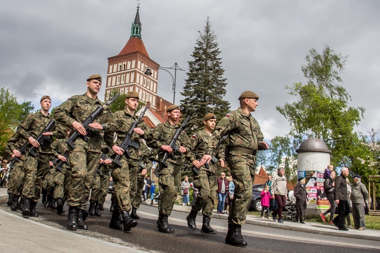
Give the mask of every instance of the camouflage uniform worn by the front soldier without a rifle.
M 213 155 L 219 140 L 228 135 L 230 152 L 227 162 L 234 178 L 234 202 L 229 214 L 229 224 L 243 225 L 252 199 L 252 183 L 255 174 L 256 151 L 263 140 L 257 120 L 246 114 L 241 108 L 227 114 L 215 128 L 206 149 Z

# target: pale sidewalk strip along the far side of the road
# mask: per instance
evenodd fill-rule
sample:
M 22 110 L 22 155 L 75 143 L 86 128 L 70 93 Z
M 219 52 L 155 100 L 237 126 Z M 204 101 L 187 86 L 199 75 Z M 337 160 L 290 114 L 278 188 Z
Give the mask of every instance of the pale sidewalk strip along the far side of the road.
M 150 199 L 146 202 L 142 201 L 143 204 L 150 204 Z M 173 210 L 178 212 L 190 213 L 191 206 L 182 206 L 182 205 L 174 205 Z M 227 220 L 228 215 L 220 215 L 213 213 L 213 218 L 224 219 Z M 286 230 L 293 230 L 299 232 L 308 232 L 314 234 L 324 234 L 324 235 L 334 235 L 334 236 L 345 236 L 350 238 L 358 238 L 368 239 L 368 240 L 376 240 L 380 241 L 380 231 L 366 229 L 364 231 L 350 229 L 349 231 L 341 231 L 338 230 L 335 226 L 329 224 L 321 224 L 315 222 L 307 222 L 305 224 L 300 224 L 297 222 L 293 222 L 291 220 L 285 220 L 283 224 L 274 222 L 272 219 L 261 219 L 259 216 L 247 215 L 246 219 L 247 224 L 258 225 L 258 226 L 267 226 L 272 228 L 281 228 Z M 244 226 L 243 226 L 244 229 Z

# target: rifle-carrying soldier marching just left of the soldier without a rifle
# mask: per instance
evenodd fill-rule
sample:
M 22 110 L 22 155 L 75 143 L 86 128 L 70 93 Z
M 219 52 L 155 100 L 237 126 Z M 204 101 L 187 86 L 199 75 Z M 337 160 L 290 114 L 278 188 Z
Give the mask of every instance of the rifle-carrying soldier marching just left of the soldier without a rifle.
M 205 128 L 195 133 L 191 138 L 193 151 L 198 160 L 205 154 L 212 131 L 215 128 L 215 115 L 208 113 L 203 118 L 203 123 L 205 124 Z M 218 152 L 220 165 L 224 167 L 224 149 L 219 148 L 218 150 L 220 150 L 220 152 Z M 216 164 L 210 162 L 208 167 L 202 166 L 199 168 L 199 175 L 194 173 L 193 184 L 194 188 L 199 189 L 199 194 L 194 201 L 190 214 L 186 217 L 187 226 L 196 230 L 197 226 L 195 220 L 198 212 L 202 209 L 203 225 L 201 231 L 209 234 L 216 234 L 216 230 L 210 227 L 210 219 L 212 218 L 212 212 L 214 210 L 214 198 L 217 189 L 216 170 Z

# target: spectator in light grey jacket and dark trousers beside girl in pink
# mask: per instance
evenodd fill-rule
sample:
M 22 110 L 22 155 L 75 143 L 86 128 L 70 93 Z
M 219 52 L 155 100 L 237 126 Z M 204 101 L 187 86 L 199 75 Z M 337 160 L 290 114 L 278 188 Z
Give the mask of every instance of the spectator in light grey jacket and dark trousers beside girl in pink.
M 277 169 L 277 174 L 272 178 L 271 196 L 276 200 L 277 208 L 272 213 L 273 221 L 276 221 L 276 216 L 278 215 L 278 222 L 284 223 L 282 221 L 282 209 L 285 208 L 285 200 L 288 198 L 288 190 L 286 188 L 287 182 L 284 176 L 284 167 L 279 167 Z

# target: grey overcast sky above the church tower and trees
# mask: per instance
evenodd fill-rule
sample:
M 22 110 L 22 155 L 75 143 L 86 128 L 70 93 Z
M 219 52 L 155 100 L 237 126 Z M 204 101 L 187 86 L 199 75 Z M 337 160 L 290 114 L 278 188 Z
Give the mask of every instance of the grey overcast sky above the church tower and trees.
M 39 108 L 43 95 L 57 106 L 85 93 L 91 74 L 106 76 L 107 58 L 118 55 L 130 37 L 137 2 L 13 0 L 1 6 L 0 87 Z M 311 48 L 322 53 L 325 45 L 349 56 L 341 77 L 350 105 L 366 109 L 358 130 L 380 132 L 379 10 L 375 0 L 141 0 L 139 13 L 149 57 L 163 67 L 177 62 L 186 71 L 209 16 L 227 78 L 225 99 L 236 109 L 243 91 L 256 92 L 253 116 L 270 140 L 289 131 L 275 109 L 295 99 L 284 86 L 305 83 L 306 55 Z M 177 71 L 176 104 L 186 77 Z M 160 71 L 158 95 L 172 101 L 171 89 L 170 75 Z

